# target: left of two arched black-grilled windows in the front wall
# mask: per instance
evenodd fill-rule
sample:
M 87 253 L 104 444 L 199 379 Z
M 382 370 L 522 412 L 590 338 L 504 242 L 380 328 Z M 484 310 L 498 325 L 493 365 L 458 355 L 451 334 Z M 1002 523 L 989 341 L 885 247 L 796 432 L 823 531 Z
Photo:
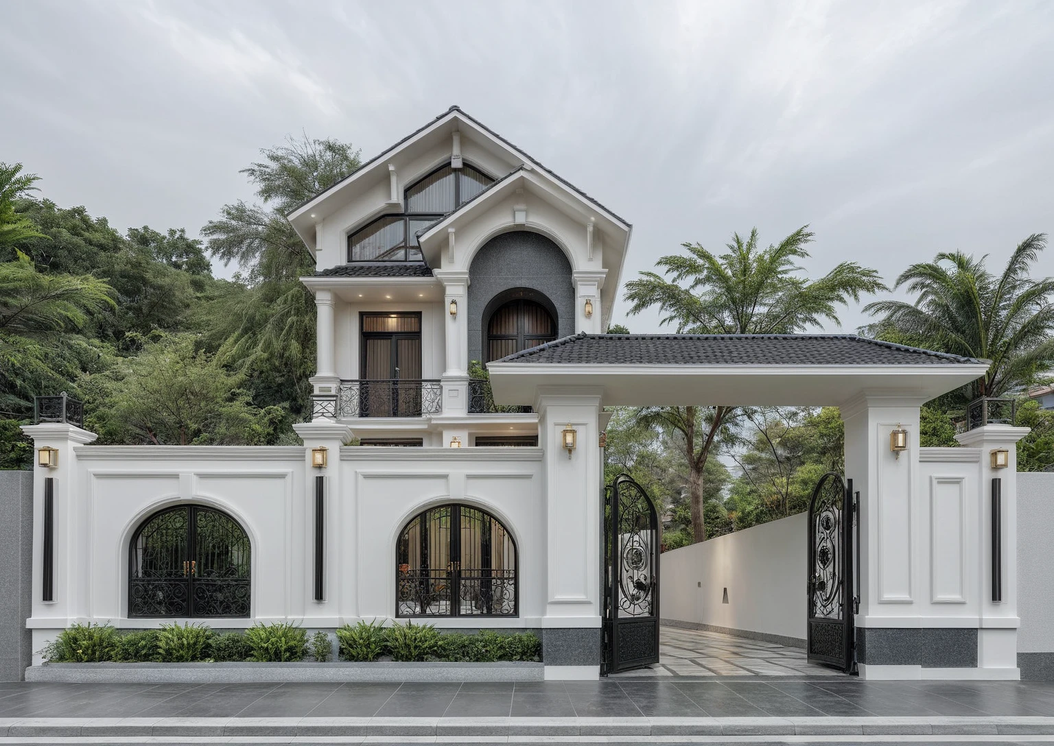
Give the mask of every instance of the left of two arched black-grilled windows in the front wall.
M 197 505 L 154 513 L 129 547 L 129 616 L 249 616 L 251 555 L 227 513 Z

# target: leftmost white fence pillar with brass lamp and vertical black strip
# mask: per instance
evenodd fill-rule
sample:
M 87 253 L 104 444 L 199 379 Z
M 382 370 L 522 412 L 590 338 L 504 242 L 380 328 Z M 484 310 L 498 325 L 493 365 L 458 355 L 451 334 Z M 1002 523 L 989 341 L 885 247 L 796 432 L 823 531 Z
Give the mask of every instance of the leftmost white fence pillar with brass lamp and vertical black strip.
M 78 487 L 77 447 L 92 443 L 98 435 L 65 423 L 25 425 L 22 432 L 33 438 L 34 463 L 37 449 L 58 450 L 58 465 L 34 467 L 33 475 L 33 615 L 26 623 L 33 629 L 34 664 L 37 653 L 58 632 L 78 619 L 89 615 L 91 567 L 90 514 L 86 495 Z M 53 601 L 43 601 L 44 489 L 53 479 Z M 125 555 L 126 556 L 126 555 Z M 123 567 L 123 566 L 122 566 Z

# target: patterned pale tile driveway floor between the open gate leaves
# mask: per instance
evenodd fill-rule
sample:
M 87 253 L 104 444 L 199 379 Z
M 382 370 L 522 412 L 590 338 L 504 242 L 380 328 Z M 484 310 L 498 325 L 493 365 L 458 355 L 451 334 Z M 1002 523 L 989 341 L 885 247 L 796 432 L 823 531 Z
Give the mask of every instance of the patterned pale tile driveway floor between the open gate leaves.
M 619 679 L 838 675 L 806 662 L 800 648 L 668 626 L 660 629 L 658 666 L 617 674 Z

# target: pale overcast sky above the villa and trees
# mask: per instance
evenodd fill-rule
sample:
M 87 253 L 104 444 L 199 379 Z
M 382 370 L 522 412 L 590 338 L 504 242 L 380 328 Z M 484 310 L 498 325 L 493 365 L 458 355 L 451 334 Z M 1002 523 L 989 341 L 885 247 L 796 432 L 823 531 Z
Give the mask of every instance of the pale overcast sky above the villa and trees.
M 1052 32 L 1054 3 L 995 0 L 0 0 L 0 160 L 121 231 L 196 235 L 252 197 L 258 149 L 370 157 L 456 103 L 633 223 L 623 280 L 809 223 L 811 273 L 892 283 L 1054 231 Z

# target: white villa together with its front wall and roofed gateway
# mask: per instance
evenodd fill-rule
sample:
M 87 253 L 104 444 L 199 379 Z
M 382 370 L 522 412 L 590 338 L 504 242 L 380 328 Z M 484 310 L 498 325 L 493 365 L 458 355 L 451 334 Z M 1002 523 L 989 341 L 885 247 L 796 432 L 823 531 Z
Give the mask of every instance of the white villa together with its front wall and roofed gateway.
M 27 426 L 34 650 L 75 622 L 423 617 L 535 630 L 549 679 L 647 664 L 659 528 L 622 487 L 619 515 L 637 512 L 605 514 L 604 407 L 831 405 L 857 517 L 836 502 L 812 529 L 828 549 L 809 654 L 866 678 L 1020 675 L 1026 431 L 919 448 L 920 405 L 984 361 L 852 335 L 606 335 L 630 224 L 456 106 L 288 218 L 317 267 L 304 446 L 93 446 L 64 403 Z M 721 595 L 676 580 L 664 608 Z

